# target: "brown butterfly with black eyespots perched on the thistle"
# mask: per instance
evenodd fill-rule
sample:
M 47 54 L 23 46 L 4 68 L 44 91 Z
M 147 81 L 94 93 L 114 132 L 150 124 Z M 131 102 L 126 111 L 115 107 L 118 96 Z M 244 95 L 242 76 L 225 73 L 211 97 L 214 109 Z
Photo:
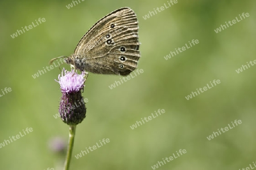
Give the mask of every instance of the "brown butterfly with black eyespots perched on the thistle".
M 97 74 L 126 76 L 137 68 L 141 57 L 138 19 L 133 10 L 123 7 L 100 19 L 77 44 L 65 62 L 75 69 Z M 59 59 L 57 57 L 50 61 Z

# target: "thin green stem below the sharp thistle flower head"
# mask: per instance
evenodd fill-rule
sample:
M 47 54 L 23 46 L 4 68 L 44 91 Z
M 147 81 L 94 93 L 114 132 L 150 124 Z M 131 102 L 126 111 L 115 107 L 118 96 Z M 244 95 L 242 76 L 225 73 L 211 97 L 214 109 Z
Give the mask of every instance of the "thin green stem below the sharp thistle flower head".
M 72 149 L 74 146 L 75 132 L 76 132 L 76 125 L 69 126 L 69 143 L 68 143 L 68 151 L 67 151 L 67 157 L 65 160 L 64 170 L 69 169 L 69 164 L 70 164 L 71 156 L 72 156 Z

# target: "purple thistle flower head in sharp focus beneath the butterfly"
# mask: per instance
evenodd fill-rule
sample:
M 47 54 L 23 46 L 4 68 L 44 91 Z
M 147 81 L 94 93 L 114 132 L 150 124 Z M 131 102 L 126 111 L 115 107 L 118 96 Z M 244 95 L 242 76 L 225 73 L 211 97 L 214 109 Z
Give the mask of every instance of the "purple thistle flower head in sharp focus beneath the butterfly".
M 63 71 L 59 74 L 62 93 L 60 100 L 60 118 L 68 125 L 77 125 L 85 118 L 86 107 L 81 90 L 84 89 L 85 73 L 78 74 L 75 70 Z

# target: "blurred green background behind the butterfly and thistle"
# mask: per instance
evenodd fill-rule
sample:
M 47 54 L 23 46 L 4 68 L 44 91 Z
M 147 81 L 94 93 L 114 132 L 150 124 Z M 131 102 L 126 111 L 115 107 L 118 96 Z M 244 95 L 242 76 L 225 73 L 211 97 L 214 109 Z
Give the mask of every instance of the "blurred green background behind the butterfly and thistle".
M 78 1 L 78 0 L 77 0 Z M 59 68 L 38 78 L 32 75 L 53 57 L 70 55 L 89 28 L 106 14 L 129 6 L 139 19 L 144 73 L 110 89 L 119 76 L 89 74 L 85 120 L 77 126 L 71 169 L 152 169 L 180 149 L 187 154 L 158 169 L 242 169 L 256 160 L 256 66 L 237 73 L 256 59 L 255 1 L 179 1 L 143 19 L 167 1 L 1 1 L 0 143 L 33 131 L 0 148 L 0 169 L 47 169 L 61 165 L 63 155 L 49 149 L 55 137 L 68 140 L 68 126 L 58 113 L 61 97 L 55 78 Z M 214 29 L 242 13 L 249 18 L 216 34 Z M 11 38 L 17 29 L 38 18 L 46 22 Z M 192 39 L 199 44 L 165 60 Z M 67 64 L 61 68 L 69 69 Z M 185 96 L 214 79 L 218 84 L 190 100 Z M 0 91 L 2 94 L 2 91 Z M 166 113 L 131 130 L 130 126 L 155 110 Z M 234 120 L 242 124 L 208 140 L 207 136 Z M 86 147 L 109 138 L 110 143 L 76 159 Z

